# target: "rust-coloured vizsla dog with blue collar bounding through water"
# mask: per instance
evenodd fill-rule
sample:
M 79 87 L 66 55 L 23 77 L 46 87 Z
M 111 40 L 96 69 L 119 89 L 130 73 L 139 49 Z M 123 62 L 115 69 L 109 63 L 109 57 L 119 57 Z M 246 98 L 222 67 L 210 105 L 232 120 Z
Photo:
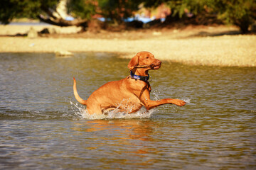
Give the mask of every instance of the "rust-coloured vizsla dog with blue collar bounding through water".
M 185 101 L 165 98 L 159 101 L 151 101 L 149 84 L 149 70 L 159 69 L 161 61 L 156 60 L 150 52 L 138 52 L 128 64 L 130 75 L 119 81 L 110 81 L 94 91 L 87 100 L 78 95 L 74 78 L 74 95 L 79 103 L 87 106 L 90 114 L 102 114 L 106 111 L 119 109 L 121 112 L 134 113 L 142 106 L 146 110 L 163 104 L 175 104 L 184 106 Z

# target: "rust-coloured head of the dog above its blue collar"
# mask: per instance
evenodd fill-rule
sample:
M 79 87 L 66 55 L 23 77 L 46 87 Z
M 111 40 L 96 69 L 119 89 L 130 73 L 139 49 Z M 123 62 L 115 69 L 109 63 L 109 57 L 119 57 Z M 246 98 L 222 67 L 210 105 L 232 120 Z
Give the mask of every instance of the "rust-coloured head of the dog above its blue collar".
M 129 61 L 128 68 L 132 71 L 135 66 L 144 66 L 145 70 L 149 69 L 159 69 L 161 67 L 161 61 L 154 58 L 150 52 L 138 52 L 137 55 L 132 57 L 132 60 Z

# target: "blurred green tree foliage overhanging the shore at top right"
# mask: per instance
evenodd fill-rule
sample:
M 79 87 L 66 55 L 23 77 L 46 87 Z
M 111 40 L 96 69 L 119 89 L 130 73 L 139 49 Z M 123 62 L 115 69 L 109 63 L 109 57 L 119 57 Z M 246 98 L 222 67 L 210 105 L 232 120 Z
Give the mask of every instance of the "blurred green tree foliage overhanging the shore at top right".
M 212 13 L 226 23 L 240 27 L 242 33 L 247 33 L 256 20 L 256 0 L 145 0 L 144 6 L 156 7 L 162 3 L 170 6 L 173 17 Z

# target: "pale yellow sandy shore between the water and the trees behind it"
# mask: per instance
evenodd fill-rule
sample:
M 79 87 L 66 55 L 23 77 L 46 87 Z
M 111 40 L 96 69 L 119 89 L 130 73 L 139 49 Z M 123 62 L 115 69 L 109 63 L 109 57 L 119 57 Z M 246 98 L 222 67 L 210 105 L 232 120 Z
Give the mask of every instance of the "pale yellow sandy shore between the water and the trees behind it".
M 8 30 L 11 26 L 4 27 Z M 18 29 L 21 29 L 21 26 L 14 30 Z M 6 36 L 1 26 L 0 30 L 0 52 L 66 50 L 70 52 L 117 52 L 121 57 L 132 57 L 139 51 L 149 51 L 160 60 L 172 62 L 256 67 L 256 35 L 211 36 L 213 28 L 210 29 L 212 32 L 197 30 L 196 33 L 195 30 L 193 33 L 190 32 L 192 30 L 147 30 L 146 32 L 113 33 L 112 36 L 111 33 L 104 32 L 95 36 L 89 35 L 92 33 L 86 33 L 81 35 L 81 38 L 79 35 L 73 35 L 34 39 Z M 122 36 L 124 34 L 125 36 Z M 106 38 L 109 35 L 110 37 Z M 218 33 L 215 32 L 215 35 Z

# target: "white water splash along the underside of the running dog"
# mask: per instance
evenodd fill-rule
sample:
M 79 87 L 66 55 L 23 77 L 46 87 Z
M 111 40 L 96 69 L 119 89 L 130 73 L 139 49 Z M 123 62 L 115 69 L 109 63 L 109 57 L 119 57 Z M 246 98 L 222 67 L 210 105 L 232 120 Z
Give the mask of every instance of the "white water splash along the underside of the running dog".
M 113 111 L 108 111 L 105 114 L 89 114 L 87 113 L 86 108 L 80 108 L 78 104 L 75 104 L 72 101 L 70 101 L 70 104 L 71 106 L 75 106 L 75 108 L 73 108 L 73 111 L 75 111 L 75 115 L 77 115 L 78 118 L 87 119 L 87 120 L 151 118 L 151 115 L 154 113 L 154 109 L 147 111 L 146 108 L 142 107 L 136 113 L 129 114 L 129 113 L 120 112 L 117 107 L 117 109 L 114 109 Z

